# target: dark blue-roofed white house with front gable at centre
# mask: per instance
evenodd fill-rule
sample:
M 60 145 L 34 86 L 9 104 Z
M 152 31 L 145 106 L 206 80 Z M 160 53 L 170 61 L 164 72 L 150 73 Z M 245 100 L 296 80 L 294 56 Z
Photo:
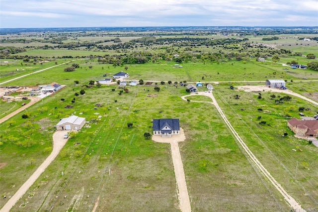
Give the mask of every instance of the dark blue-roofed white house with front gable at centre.
M 171 137 L 180 134 L 179 118 L 161 118 L 153 120 L 154 135 Z

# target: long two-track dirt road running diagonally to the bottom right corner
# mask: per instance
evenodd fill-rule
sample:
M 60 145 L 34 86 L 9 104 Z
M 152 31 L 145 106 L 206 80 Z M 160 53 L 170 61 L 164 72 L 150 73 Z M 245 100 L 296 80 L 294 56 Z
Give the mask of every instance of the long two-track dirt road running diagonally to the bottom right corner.
M 190 94 L 187 96 L 191 96 L 191 95 L 196 95 L 196 94 Z M 230 121 L 227 119 L 227 117 L 223 113 L 221 107 L 218 105 L 217 101 L 215 100 L 213 93 L 198 92 L 198 95 L 208 96 L 212 99 L 213 101 L 212 104 L 214 104 L 215 107 L 218 109 L 223 120 L 228 125 L 229 129 L 231 130 L 233 135 L 236 137 L 236 139 L 238 140 L 239 144 L 242 146 L 243 150 L 246 152 L 248 157 L 256 165 L 258 170 L 264 174 L 264 176 L 269 180 L 269 182 L 271 182 L 271 184 L 277 189 L 277 191 L 284 197 L 285 201 L 290 205 L 290 207 L 293 209 L 297 209 L 297 211 L 302 210 L 303 212 L 305 212 L 305 210 L 302 209 L 301 205 L 297 203 L 297 201 L 284 190 L 284 188 L 271 176 L 271 174 L 267 171 L 267 169 L 258 161 L 258 159 L 254 156 L 254 154 L 249 150 L 245 142 L 240 138 L 239 134 L 236 132 L 236 130 L 231 125 Z M 186 96 L 182 97 L 182 99 L 185 100 L 185 97 Z M 193 101 L 193 102 L 198 102 L 198 101 Z

